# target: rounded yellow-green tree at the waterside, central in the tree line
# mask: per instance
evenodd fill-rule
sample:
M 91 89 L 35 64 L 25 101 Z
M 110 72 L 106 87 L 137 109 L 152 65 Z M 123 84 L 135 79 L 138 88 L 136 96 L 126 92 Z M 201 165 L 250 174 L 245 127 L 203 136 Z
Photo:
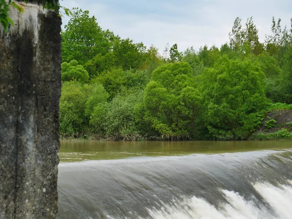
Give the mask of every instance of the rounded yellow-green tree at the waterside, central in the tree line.
M 190 65 L 185 62 L 157 68 L 144 95 L 146 121 L 164 139 L 194 137 L 200 95 Z

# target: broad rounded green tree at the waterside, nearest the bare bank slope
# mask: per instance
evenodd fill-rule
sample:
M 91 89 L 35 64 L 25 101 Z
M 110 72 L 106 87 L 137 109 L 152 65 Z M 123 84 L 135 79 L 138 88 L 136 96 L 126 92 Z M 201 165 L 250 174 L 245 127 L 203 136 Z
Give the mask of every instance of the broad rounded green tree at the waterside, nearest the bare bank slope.
M 216 139 L 242 139 L 257 125 L 266 104 L 265 75 L 250 59 L 220 59 L 202 74 L 204 120 Z

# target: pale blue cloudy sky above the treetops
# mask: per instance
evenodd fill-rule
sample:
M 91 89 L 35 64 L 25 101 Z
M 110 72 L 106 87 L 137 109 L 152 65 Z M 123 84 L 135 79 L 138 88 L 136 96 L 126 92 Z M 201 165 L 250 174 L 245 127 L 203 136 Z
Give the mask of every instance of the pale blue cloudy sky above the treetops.
M 154 45 L 166 43 L 180 51 L 201 45 L 220 47 L 228 41 L 235 18 L 253 17 L 259 37 L 271 33 L 273 16 L 290 27 L 292 0 L 62 0 L 61 5 L 89 10 L 98 24 L 122 38 Z M 63 25 L 69 18 L 63 18 Z

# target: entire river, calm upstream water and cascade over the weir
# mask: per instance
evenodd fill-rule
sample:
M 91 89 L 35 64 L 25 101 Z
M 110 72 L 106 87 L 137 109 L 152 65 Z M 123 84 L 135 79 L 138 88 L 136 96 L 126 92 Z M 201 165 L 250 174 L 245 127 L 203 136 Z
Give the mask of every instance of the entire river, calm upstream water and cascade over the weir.
M 62 142 L 58 219 L 292 219 L 292 142 Z

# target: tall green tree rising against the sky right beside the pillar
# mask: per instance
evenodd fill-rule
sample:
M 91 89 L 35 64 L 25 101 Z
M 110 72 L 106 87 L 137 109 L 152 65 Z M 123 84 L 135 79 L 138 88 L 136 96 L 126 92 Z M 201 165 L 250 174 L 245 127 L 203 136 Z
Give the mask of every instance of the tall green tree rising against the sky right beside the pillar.
M 96 18 L 89 16 L 89 11 L 73 8 L 70 18 L 62 36 L 62 60 L 69 62 L 77 60 L 85 64 L 95 55 L 105 55 L 111 49 L 113 34 L 103 31 L 96 22 Z

